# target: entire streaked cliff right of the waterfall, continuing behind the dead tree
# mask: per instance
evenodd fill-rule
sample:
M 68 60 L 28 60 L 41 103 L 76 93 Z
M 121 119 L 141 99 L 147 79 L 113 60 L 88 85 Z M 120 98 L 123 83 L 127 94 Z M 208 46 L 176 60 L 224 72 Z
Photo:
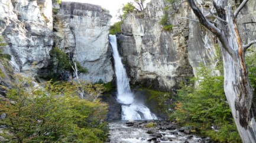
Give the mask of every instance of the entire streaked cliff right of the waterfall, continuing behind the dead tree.
M 204 14 L 212 18 L 206 11 L 212 1 L 203 1 L 201 5 Z M 214 58 L 216 37 L 199 22 L 186 19 L 196 19 L 186 1 L 168 9 L 173 28 L 163 30 L 160 21 L 166 6 L 170 4 L 164 0 L 152 0 L 144 11 L 128 15 L 122 24 L 120 51 L 132 84 L 169 90 L 180 80 L 196 75 L 200 63 L 215 66 L 218 62 Z M 255 39 L 255 24 L 242 24 L 250 21 L 255 21 L 255 1 L 248 3 L 238 20 L 244 41 Z

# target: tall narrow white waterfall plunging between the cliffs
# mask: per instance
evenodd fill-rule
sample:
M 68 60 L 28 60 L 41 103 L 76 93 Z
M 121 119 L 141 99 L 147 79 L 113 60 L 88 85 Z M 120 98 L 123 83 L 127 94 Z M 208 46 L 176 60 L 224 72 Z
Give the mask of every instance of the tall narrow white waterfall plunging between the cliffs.
M 122 119 L 157 119 L 143 103 L 135 100 L 129 87 L 128 77 L 119 56 L 116 36 L 109 35 L 109 42 L 113 49 L 115 75 L 117 85 L 116 100 L 122 104 Z

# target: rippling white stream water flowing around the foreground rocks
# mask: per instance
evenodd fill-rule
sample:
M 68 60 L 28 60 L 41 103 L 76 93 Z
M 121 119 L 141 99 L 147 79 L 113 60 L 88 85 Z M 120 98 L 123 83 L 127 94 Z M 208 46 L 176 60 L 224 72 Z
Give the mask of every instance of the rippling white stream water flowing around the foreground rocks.
M 141 120 L 140 120 L 141 121 Z M 184 134 L 179 129 L 159 129 L 157 132 L 161 137 L 155 138 L 153 134 L 148 134 L 150 128 L 143 127 L 147 122 L 137 122 L 133 126 L 128 126 L 125 121 L 109 122 L 110 143 L 141 143 L 141 142 L 165 142 L 165 143 L 210 143 L 208 137 L 199 137 L 192 134 Z M 154 140 L 153 140 L 154 139 Z

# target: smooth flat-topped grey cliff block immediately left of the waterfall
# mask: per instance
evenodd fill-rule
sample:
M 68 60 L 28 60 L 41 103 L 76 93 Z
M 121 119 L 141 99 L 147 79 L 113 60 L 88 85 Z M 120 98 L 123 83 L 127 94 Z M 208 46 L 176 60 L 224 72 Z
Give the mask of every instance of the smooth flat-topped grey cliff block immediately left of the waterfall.
M 62 2 L 54 21 L 56 46 L 64 49 L 89 73 L 81 79 L 110 82 L 114 71 L 108 32 L 111 15 L 98 5 Z

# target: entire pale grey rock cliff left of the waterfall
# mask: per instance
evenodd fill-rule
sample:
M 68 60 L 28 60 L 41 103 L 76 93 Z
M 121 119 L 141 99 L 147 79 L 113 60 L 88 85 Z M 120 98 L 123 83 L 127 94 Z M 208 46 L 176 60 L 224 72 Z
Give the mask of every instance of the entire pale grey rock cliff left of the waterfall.
M 54 16 L 52 14 L 54 12 Z M 57 14 L 56 14 L 57 12 Z M 53 21 L 54 19 L 54 21 Z M 108 30 L 111 15 L 101 6 L 51 0 L 0 0 L 0 35 L 7 46 L 0 59 L 0 94 L 8 87 L 8 73 L 44 77 L 56 46 L 79 61 L 89 73 L 80 79 L 112 81 Z M 53 23 L 54 22 L 54 23 Z

